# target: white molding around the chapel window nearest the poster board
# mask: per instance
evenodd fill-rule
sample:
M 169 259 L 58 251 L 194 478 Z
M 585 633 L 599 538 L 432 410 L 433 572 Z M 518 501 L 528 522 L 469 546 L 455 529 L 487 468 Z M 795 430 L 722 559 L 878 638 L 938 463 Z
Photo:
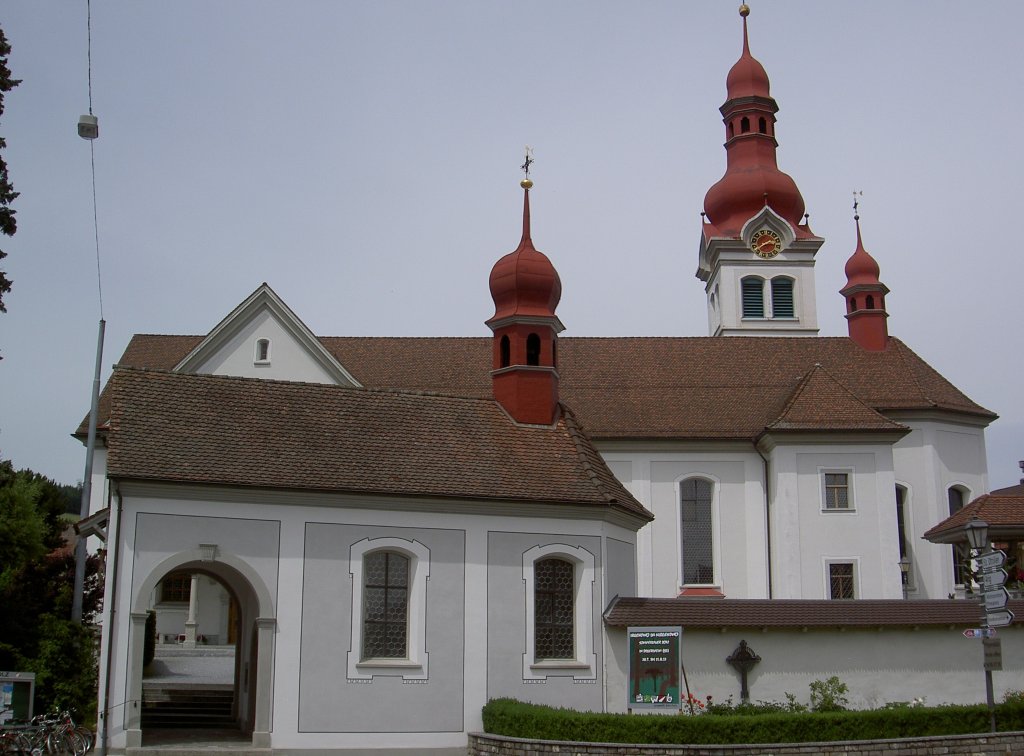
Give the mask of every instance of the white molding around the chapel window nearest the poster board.
M 573 582 L 573 659 L 548 659 L 538 661 L 536 626 L 535 564 L 542 559 L 557 557 L 572 563 Z M 594 591 L 597 576 L 596 558 L 583 546 L 551 543 L 534 546 L 522 554 L 522 581 L 525 588 L 525 637 L 522 654 L 522 679 L 546 680 L 548 677 L 566 677 L 573 680 L 597 679 L 597 650 L 594 643 Z

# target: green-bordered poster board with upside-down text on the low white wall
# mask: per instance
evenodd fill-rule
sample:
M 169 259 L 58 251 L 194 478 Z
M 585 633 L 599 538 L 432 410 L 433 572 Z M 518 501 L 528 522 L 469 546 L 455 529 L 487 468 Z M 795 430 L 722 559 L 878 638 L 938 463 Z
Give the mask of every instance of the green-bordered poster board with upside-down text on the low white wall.
M 631 709 L 679 709 L 681 627 L 631 627 L 629 687 Z

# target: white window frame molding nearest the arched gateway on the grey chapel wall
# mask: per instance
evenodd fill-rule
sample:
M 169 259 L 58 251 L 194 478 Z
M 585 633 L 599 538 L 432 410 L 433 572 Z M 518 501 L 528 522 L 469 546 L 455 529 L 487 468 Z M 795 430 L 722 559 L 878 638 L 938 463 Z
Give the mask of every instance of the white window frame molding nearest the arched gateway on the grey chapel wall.
M 397 552 L 409 558 L 409 592 L 404 659 L 362 659 L 364 557 L 376 551 Z M 348 575 L 352 585 L 349 647 L 346 668 L 349 679 L 370 680 L 375 675 L 400 676 L 403 680 L 428 678 L 427 581 L 430 579 L 430 549 L 419 541 L 404 538 L 365 538 L 348 550 Z

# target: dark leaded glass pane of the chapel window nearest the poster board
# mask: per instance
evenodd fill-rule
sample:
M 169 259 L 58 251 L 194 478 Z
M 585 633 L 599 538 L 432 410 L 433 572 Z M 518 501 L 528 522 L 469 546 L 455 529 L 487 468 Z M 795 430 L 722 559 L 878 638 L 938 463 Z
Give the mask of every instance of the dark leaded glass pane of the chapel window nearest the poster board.
M 552 557 L 534 566 L 534 626 L 537 661 L 574 659 L 575 576 L 572 562 Z

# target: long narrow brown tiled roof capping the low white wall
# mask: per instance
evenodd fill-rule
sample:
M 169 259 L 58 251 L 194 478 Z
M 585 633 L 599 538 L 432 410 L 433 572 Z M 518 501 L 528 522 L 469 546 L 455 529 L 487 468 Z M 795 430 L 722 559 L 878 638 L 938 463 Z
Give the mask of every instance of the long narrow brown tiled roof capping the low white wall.
M 1010 601 L 1020 616 L 1024 601 Z M 977 601 L 901 599 L 825 601 L 738 598 L 620 598 L 605 611 L 608 625 L 679 625 L 683 628 L 881 627 L 885 625 L 974 625 Z

